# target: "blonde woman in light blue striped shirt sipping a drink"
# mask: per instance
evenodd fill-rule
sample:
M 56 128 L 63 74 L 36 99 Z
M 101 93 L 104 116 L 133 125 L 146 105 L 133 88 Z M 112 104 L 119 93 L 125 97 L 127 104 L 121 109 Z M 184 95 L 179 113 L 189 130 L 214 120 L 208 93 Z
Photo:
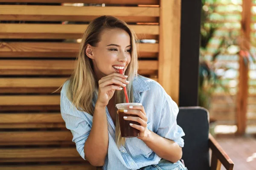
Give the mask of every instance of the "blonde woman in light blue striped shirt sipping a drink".
M 155 81 L 138 76 L 136 35 L 111 16 L 93 20 L 82 37 L 76 68 L 61 90 L 61 115 L 83 159 L 104 170 L 184 170 L 183 130 L 178 107 Z M 124 75 L 119 74 L 123 69 Z M 122 138 L 115 105 L 130 102 L 125 120 L 140 130 L 137 138 Z

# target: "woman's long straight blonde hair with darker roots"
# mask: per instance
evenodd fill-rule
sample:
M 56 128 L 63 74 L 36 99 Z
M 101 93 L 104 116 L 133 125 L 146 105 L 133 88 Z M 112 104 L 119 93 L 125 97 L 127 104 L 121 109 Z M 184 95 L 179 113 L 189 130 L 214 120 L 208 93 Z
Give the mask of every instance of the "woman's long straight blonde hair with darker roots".
M 100 33 L 104 29 L 114 29 L 121 28 L 125 30 L 131 38 L 131 62 L 125 71 L 125 75 L 128 75 L 128 81 L 130 83 L 127 85 L 127 93 L 129 101 L 133 102 L 133 89 L 132 80 L 137 77 L 138 70 L 138 57 L 136 50 L 137 37 L 134 31 L 129 28 L 129 26 L 122 20 L 112 16 L 101 16 L 91 21 L 85 30 L 81 45 L 79 48 L 79 54 L 77 55 L 77 65 L 69 79 L 69 84 L 67 86 L 67 97 L 73 103 L 73 105 L 81 110 L 89 113 L 93 116 L 93 97 L 98 94 L 98 83 L 96 82 L 96 76 L 93 72 L 93 62 L 92 59 L 87 57 L 85 50 L 87 44 L 96 46 L 100 41 Z M 115 91 L 115 103 L 124 103 L 125 95 L 123 91 Z M 116 114 L 117 116 L 117 114 Z M 119 119 L 116 118 L 116 144 L 118 147 L 125 146 L 125 138 L 121 137 Z

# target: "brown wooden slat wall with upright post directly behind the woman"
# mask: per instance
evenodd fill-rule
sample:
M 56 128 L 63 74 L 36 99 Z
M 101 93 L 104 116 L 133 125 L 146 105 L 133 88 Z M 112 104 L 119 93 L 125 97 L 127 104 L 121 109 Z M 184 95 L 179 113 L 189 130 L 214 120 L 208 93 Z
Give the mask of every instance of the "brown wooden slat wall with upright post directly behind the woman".
M 0 169 L 96 169 L 77 153 L 61 118 L 60 90 L 52 92 L 76 65 L 77 39 L 101 15 L 134 29 L 139 74 L 178 101 L 180 0 L 0 0 Z

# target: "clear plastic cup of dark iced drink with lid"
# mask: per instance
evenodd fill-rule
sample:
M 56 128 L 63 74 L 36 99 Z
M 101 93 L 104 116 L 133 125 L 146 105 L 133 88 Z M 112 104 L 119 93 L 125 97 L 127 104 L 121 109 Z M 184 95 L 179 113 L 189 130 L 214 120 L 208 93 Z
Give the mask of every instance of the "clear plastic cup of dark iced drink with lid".
M 138 122 L 125 120 L 124 116 L 134 116 L 138 117 L 134 114 L 126 114 L 124 110 L 129 110 L 129 106 L 141 106 L 141 103 L 120 103 L 116 104 L 116 108 L 118 109 L 118 117 L 119 117 L 119 124 L 121 130 L 121 136 L 125 138 L 137 137 L 139 136 L 140 130 L 135 129 L 134 127 L 130 126 L 130 123 L 135 125 L 140 125 Z

